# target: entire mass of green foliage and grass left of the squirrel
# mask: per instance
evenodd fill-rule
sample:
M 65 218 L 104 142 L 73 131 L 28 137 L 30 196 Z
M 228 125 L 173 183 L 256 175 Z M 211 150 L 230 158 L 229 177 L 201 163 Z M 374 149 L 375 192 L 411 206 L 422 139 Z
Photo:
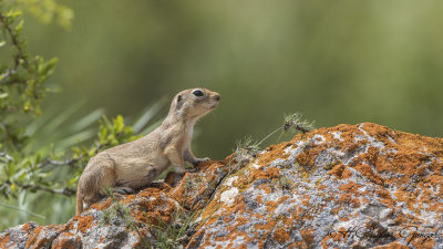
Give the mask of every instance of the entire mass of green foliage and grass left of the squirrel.
M 7 54 L 0 58 L 0 230 L 30 217 L 42 224 L 71 217 L 71 197 L 89 159 L 141 136 L 123 116 L 107 118 L 102 110 L 76 120 L 79 106 L 42 114 L 41 102 L 51 92 L 48 80 L 56 59 L 29 54 L 22 10 L 63 27 L 72 19 L 72 11 L 54 0 L 0 0 L 0 52 Z M 134 121 L 137 133 L 152 129 L 147 123 L 159 107 L 147 108 Z M 35 211 L 42 204 L 44 216 Z

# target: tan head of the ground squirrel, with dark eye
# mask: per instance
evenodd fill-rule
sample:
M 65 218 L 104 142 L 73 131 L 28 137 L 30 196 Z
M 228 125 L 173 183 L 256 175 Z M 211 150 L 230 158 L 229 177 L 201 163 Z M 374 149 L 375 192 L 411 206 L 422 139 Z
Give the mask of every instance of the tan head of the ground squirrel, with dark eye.
M 171 112 L 189 120 L 198 120 L 217 107 L 220 94 L 207 89 L 188 89 L 175 95 Z

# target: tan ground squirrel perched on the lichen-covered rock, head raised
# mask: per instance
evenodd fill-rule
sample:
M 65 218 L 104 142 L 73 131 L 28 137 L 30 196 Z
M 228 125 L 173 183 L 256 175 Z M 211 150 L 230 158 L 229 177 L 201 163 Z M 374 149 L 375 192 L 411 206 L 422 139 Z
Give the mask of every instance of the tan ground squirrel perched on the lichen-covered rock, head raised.
M 175 95 L 162 125 L 148 135 L 99 153 L 80 176 L 76 214 L 103 197 L 106 187 L 131 194 L 148 186 L 169 165 L 185 174 L 184 162 L 196 166 L 209 158 L 196 158 L 190 152 L 194 124 L 213 111 L 220 95 L 206 89 L 190 89 Z

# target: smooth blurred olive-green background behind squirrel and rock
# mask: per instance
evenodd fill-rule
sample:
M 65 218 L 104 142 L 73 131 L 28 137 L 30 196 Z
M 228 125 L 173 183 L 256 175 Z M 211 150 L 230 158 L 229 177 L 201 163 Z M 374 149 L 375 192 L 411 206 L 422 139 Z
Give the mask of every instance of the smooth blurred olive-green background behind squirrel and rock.
M 317 127 L 374 122 L 442 136 L 442 1 L 61 3 L 74 11 L 70 30 L 25 18 L 30 52 L 59 58 L 50 81 L 60 92 L 43 115 L 85 103 L 78 115 L 134 117 L 166 96 L 161 120 L 175 93 L 203 86 L 222 102 L 196 126 L 199 157 L 222 159 L 296 111 Z

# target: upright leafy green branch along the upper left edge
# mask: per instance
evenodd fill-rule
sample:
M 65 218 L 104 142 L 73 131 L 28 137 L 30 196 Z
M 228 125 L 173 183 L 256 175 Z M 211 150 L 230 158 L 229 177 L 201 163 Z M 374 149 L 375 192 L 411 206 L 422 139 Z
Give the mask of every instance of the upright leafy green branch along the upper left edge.
M 20 11 L 0 10 L 0 41 L 12 52 L 10 62 L 0 64 L 0 148 L 20 151 L 27 137 L 18 122 L 23 114 L 41 114 L 40 102 L 48 92 L 45 81 L 56 59 L 45 61 L 27 53 L 27 42 L 21 37 L 23 20 Z

